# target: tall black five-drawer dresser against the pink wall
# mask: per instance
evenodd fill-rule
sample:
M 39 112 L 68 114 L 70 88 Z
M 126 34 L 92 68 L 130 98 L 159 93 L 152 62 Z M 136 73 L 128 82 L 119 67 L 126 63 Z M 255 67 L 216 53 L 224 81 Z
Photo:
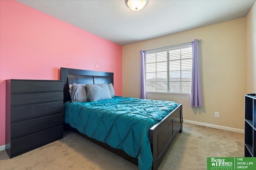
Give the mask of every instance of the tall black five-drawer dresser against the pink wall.
M 63 138 L 62 80 L 6 80 L 9 157 Z

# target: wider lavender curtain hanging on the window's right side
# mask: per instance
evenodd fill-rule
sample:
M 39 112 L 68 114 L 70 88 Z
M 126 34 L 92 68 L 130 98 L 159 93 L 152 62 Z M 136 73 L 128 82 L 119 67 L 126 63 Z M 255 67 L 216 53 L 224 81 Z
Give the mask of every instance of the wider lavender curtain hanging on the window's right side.
M 192 88 L 190 106 L 202 107 L 197 39 L 192 42 Z

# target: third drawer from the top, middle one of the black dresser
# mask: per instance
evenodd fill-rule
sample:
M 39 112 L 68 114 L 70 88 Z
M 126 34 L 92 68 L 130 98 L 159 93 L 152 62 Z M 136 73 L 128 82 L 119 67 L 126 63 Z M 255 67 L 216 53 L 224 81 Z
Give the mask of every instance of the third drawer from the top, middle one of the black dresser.
M 33 104 L 11 108 L 11 122 L 63 112 L 63 102 Z

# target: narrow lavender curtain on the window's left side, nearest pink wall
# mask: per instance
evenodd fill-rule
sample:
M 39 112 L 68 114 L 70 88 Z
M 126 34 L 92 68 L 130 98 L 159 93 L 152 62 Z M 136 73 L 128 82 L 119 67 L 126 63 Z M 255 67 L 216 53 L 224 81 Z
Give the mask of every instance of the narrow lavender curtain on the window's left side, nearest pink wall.
M 140 98 L 146 99 L 146 86 L 145 86 L 145 55 L 144 50 L 140 50 Z

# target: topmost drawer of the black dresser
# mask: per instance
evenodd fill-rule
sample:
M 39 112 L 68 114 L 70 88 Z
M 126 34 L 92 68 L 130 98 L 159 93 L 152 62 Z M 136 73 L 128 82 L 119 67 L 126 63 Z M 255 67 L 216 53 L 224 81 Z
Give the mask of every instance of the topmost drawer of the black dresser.
M 62 81 L 54 80 L 12 80 L 11 93 L 62 91 Z

